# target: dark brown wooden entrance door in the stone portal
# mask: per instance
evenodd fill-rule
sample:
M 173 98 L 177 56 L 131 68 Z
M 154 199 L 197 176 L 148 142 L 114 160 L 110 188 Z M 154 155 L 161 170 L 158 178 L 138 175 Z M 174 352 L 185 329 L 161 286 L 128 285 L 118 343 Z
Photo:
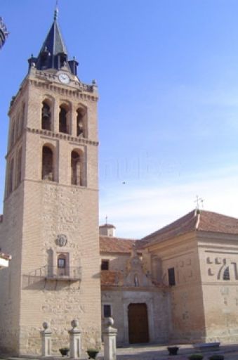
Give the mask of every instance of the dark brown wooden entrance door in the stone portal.
M 148 314 L 146 304 L 129 304 L 128 331 L 130 344 L 149 342 Z

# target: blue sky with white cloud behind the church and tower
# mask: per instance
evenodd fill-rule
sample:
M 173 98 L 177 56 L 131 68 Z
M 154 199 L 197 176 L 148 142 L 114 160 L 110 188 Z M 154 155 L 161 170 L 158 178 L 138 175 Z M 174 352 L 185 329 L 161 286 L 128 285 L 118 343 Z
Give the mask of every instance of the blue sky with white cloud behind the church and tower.
M 0 195 L 8 104 L 54 0 L 3 0 Z M 79 78 L 100 91 L 100 223 L 140 238 L 204 208 L 238 217 L 238 1 L 59 0 Z M 1 212 L 1 207 L 0 207 Z

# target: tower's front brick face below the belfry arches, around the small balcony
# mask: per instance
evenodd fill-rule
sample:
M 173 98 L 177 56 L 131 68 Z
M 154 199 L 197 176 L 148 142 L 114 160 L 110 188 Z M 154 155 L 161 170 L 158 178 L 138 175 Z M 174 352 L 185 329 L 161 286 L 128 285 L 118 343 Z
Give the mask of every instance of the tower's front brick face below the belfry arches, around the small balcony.
M 100 344 L 98 214 L 92 211 L 97 201 L 97 191 L 27 181 L 20 314 L 22 354 L 39 353 L 43 321 L 48 321 L 53 330 L 55 354 L 59 347 L 69 345 L 67 330 L 72 319 L 79 320 L 84 349 Z M 61 233 L 68 239 L 65 247 L 55 243 Z M 70 284 L 66 280 L 34 277 L 37 269 L 56 266 L 58 252 L 69 253 L 70 266 L 81 266 L 81 281 Z

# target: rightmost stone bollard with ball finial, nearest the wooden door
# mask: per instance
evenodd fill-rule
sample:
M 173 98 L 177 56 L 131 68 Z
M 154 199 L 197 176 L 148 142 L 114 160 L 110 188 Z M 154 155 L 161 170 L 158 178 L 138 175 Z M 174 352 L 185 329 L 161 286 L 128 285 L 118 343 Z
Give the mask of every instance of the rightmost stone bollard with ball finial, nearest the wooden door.
M 117 359 L 117 329 L 112 328 L 114 320 L 112 318 L 105 319 L 105 328 L 103 330 L 104 341 L 104 360 L 116 360 Z

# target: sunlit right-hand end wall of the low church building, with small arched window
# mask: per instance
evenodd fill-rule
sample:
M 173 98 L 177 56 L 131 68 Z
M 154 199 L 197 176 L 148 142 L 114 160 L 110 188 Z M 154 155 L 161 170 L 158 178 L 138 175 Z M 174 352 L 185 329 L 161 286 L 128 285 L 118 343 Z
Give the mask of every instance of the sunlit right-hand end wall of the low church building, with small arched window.
M 206 341 L 238 341 L 238 247 L 237 239 L 222 234 L 199 238 Z M 201 246 L 201 248 L 200 248 Z M 229 269 L 229 278 L 225 270 Z

